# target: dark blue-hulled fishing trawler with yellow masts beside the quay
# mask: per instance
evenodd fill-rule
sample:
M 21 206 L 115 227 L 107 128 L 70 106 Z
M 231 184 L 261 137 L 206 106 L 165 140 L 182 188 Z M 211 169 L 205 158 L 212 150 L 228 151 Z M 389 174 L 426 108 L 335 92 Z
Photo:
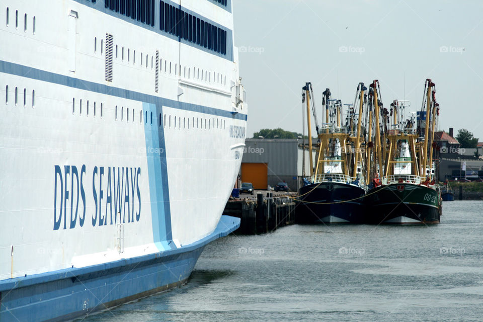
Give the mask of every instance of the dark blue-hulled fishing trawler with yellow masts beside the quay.
M 307 83 L 303 87 L 306 99 L 309 151 L 312 150 L 310 100 L 313 101 L 312 87 Z M 366 88 L 358 86 L 360 109 L 357 119 L 357 131 L 353 133 L 342 126 L 342 104 L 340 100 L 332 100 L 330 90 L 324 92 L 323 105 L 326 106 L 326 122 L 317 125 L 315 107 L 312 112 L 318 137 L 317 160 L 313 170 L 312 153 L 310 158 L 310 180 L 300 188 L 297 207 L 299 223 L 363 223 L 365 183 L 362 176 L 361 154 L 361 120 L 362 105 Z M 352 118 L 354 121 L 354 118 Z M 354 123 L 351 123 L 352 125 Z M 350 126 L 353 128 L 352 126 Z M 355 156 L 355 161 L 352 156 Z M 351 175 L 352 174 L 352 175 Z

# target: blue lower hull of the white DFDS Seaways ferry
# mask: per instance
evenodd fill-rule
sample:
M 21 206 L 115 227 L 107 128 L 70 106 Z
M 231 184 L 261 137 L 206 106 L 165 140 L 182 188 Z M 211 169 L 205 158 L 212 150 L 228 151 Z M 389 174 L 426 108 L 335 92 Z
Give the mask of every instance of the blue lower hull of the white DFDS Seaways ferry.
M 0 281 L 0 321 L 61 321 L 181 285 L 204 247 L 239 224 L 222 216 L 211 235 L 180 249 Z

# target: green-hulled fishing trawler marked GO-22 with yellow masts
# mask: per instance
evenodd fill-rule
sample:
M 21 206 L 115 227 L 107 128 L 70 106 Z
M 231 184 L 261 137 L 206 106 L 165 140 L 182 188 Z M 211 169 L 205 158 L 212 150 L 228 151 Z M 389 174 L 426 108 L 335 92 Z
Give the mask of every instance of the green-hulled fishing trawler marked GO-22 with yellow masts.
M 378 81 L 371 85 L 374 113 L 376 118 L 382 116 L 382 122 L 379 123 L 379 119 L 375 122 L 377 137 L 372 156 L 377 168 L 372 169 L 372 189 L 365 196 L 368 222 L 439 223 L 441 193 L 435 183 L 434 172 L 428 168 L 433 164 L 432 142 L 436 114 L 439 114 L 435 85 L 431 79 L 427 79 L 427 104 L 425 106 L 423 102 L 421 113 L 425 117 L 424 127 L 418 127 L 417 130 L 414 116 L 410 119 L 404 117 L 405 109 L 409 107 L 408 101 L 395 100 L 389 113 L 381 112 L 377 99 L 378 85 Z M 382 142 L 379 135 L 381 125 Z M 423 132 L 424 137 L 421 137 L 418 133 Z

